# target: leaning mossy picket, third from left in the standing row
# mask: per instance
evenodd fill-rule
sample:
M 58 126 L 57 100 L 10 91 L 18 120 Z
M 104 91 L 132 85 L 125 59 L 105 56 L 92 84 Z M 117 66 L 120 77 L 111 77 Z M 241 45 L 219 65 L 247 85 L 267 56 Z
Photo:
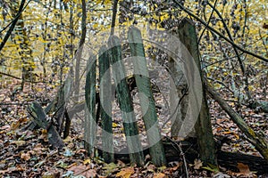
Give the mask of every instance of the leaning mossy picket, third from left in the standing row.
M 144 165 L 144 155 L 138 138 L 138 125 L 133 112 L 129 86 L 126 81 L 125 69 L 121 61 L 121 42 L 117 36 L 110 36 L 108 46 L 111 48 L 110 62 L 116 87 L 117 98 L 121 109 L 124 134 L 130 151 L 130 161 L 138 166 Z

